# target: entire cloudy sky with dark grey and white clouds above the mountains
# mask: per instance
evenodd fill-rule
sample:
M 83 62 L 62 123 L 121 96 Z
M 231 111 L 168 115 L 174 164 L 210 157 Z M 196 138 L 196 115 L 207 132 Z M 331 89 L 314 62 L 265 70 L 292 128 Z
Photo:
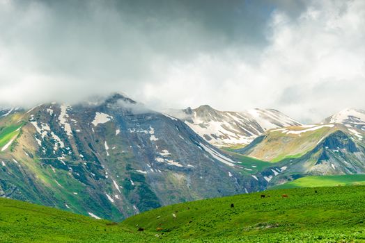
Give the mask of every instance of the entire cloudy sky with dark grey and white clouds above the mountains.
M 0 0 L 0 104 L 365 108 L 365 1 Z

